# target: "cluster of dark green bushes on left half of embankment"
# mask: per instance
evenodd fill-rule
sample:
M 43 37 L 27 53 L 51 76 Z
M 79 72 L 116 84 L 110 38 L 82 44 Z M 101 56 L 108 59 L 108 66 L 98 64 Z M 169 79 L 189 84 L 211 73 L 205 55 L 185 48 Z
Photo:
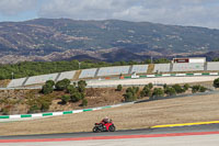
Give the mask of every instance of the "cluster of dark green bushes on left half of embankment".
M 28 113 L 48 111 L 54 100 L 54 96 L 50 94 L 54 90 L 65 92 L 61 97 L 62 104 L 82 100 L 82 105 L 87 106 L 88 100 L 85 99 L 85 87 L 87 82 L 84 80 L 80 80 L 74 85 L 70 85 L 69 79 L 64 79 L 56 83 L 53 80 L 48 80 L 42 88 L 42 93 L 44 96 L 27 100 L 27 104 L 30 105 Z

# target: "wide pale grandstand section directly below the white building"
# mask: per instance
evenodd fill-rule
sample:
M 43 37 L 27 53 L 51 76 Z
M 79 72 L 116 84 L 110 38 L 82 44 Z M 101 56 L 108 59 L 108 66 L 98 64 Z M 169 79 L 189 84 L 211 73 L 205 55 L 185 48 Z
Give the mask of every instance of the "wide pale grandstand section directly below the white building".
M 204 63 L 181 63 L 173 64 L 172 71 L 201 71 L 204 67 Z

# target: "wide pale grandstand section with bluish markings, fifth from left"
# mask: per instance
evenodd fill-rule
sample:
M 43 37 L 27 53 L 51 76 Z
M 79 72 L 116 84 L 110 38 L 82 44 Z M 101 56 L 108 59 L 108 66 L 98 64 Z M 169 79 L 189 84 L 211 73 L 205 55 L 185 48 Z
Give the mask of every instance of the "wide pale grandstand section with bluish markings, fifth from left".
M 103 67 L 103 68 L 100 68 L 97 77 L 128 74 L 129 68 L 130 66 Z

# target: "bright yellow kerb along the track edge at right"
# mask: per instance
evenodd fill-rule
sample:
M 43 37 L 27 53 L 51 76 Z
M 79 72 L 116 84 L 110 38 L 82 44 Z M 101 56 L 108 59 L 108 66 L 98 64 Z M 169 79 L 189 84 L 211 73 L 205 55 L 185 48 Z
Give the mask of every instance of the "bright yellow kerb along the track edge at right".
M 168 124 L 168 125 L 155 125 L 150 128 L 159 128 L 159 127 L 178 127 L 178 126 L 194 126 L 194 125 L 208 125 L 208 124 L 219 124 L 219 121 L 211 122 L 197 122 L 197 123 L 182 123 L 182 124 Z

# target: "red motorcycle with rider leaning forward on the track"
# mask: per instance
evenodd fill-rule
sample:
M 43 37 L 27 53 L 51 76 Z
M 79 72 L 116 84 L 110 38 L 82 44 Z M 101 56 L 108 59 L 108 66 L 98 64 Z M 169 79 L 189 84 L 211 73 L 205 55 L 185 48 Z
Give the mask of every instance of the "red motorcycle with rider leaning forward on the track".
M 93 127 L 94 133 L 100 133 L 100 132 L 115 132 L 116 126 L 114 123 L 111 121 L 108 123 L 106 122 L 101 122 L 101 123 L 95 123 Z

